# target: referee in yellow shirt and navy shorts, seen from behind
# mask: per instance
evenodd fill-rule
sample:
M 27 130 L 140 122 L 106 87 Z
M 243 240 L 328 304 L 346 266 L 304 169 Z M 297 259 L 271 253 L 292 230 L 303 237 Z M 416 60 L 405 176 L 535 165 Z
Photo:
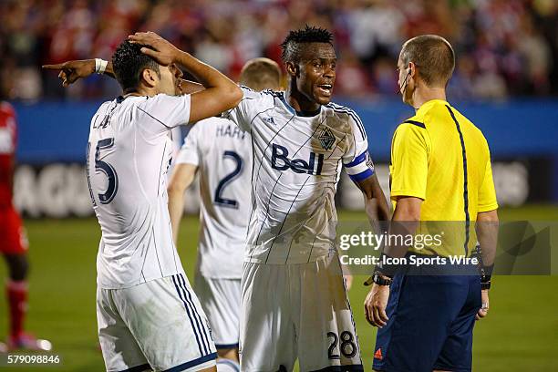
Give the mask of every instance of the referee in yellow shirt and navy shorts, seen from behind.
M 414 233 L 419 222 L 429 222 L 421 228 L 444 222 L 442 226 L 450 229 L 446 233 L 460 235 L 422 250 L 388 245 L 383 254 L 386 259 L 406 253 L 470 256 L 476 244 L 474 229 L 470 230 L 476 221 L 480 275 L 471 270 L 447 272 L 443 264 L 430 266 L 426 274 L 395 264 L 377 266 L 365 301 L 368 321 L 379 327 L 377 371 L 470 371 L 473 325 L 489 309 L 498 204 L 488 143 L 480 129 L 446 100 L 454 66 L 454 51 L 440 36 L 411 38 L 399 54 L 400 92 L 416 114 L 393 136 L 391 232 Z M 458 269 L 462 267 L 454 268 Z

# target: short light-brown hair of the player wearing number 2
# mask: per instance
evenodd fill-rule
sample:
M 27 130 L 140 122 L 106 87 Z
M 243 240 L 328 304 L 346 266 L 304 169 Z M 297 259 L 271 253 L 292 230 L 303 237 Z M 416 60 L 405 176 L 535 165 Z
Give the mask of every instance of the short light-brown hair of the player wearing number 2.
M 241 71 L 240 83 L 253 90 L 281 88 L 281 68 L 269 58 L 253 58 Z

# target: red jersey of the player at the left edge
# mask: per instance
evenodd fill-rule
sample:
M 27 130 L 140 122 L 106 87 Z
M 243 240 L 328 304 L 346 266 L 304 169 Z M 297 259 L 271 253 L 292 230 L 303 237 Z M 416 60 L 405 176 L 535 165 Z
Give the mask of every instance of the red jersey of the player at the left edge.
M 12 205 L 12 177 L 17 143 L 15 110 L 7 102 L 0 102 L 0 209 Z

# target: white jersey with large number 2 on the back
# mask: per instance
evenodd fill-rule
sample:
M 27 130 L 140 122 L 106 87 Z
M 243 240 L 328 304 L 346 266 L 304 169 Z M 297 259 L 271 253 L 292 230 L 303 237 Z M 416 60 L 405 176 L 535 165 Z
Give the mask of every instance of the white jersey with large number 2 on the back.
M 200 168 L 198 270 L 209 278 L 240 279 L 252 211 L 250 134 L 228 119 L 202 120 L 186 136 L 176 163 Z

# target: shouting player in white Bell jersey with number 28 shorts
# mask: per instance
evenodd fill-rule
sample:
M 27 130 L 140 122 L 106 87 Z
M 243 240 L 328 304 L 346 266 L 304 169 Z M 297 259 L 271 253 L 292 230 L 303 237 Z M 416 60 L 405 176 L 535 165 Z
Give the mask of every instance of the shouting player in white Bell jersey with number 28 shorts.
M 285 92 L 243 88 L 226 117 L 251 134 L 253 211 L 242 278 L 243 371 L 363 370 L 336 248 L 341 168 L 371 219 L 388 207 L 356 113 L 331 103 L 332 35 L 306 26 L 286 36 Z

